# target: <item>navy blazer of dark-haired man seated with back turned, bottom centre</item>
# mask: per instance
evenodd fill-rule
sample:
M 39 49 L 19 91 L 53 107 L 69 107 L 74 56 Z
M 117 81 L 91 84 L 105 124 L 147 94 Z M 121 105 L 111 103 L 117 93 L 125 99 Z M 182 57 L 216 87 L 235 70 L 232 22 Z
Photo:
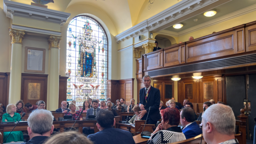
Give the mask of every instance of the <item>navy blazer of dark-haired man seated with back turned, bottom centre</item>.
M 104 130 L 99 131 L 97 133 L 90 134 L 87 136 L 87 138 L 90 139 L 94 144 L 102 144 L 102 143 L 135 144 L 132 134 L 129 131 L 124 131 L 121 129 L 114 129 L 113 127 L 108 127 L 108 128 L 105 128 Z

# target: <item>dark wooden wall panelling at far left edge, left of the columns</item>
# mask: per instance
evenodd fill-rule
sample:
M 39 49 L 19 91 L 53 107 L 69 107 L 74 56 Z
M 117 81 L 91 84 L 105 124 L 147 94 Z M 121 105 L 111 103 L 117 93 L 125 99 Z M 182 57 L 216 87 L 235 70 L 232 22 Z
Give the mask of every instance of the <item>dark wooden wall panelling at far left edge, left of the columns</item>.
M 7 95 L 7 74 L 6 73 L 0 73 L 0 103 L 3 103 L 3 105 L 7 106 L 9 95 Z

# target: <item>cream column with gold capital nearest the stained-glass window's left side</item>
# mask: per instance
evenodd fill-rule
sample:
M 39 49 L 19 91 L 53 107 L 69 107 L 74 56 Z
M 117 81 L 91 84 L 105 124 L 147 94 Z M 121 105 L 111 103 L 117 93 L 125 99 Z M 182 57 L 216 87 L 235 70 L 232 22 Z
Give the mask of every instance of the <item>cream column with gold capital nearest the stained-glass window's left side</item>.
M 59 55 L 60 48 L 59 44 L 61 41 L 61 36 L 51 35 L 48 39 L 49 49 L 51 51 L 50 55 L 50 70 L 49 70 L 49 103 L 47 103 L 48 110 L 58 109 L 59 102 Z

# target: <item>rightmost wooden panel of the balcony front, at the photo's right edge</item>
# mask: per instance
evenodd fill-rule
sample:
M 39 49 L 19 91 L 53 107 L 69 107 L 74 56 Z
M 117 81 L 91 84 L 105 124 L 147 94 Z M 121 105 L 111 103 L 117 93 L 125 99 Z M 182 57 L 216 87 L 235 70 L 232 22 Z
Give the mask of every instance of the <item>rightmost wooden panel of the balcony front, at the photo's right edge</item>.
M 256 50 L 256 21 L 245 25 L 246 52 Z

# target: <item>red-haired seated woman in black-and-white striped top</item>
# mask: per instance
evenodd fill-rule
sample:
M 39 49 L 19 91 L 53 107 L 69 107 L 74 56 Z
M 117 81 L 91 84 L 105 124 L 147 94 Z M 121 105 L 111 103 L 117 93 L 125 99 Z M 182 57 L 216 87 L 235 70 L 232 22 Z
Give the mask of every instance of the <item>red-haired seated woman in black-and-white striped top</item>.
M 177 108 L 166 108 L 160 111 L 162 115 L 162 123 L 160 123 L 156 130 L 152 133 L 148 144 L 154 143 L 172 143 L 186 140 L 180 127 L 180 111 Z

